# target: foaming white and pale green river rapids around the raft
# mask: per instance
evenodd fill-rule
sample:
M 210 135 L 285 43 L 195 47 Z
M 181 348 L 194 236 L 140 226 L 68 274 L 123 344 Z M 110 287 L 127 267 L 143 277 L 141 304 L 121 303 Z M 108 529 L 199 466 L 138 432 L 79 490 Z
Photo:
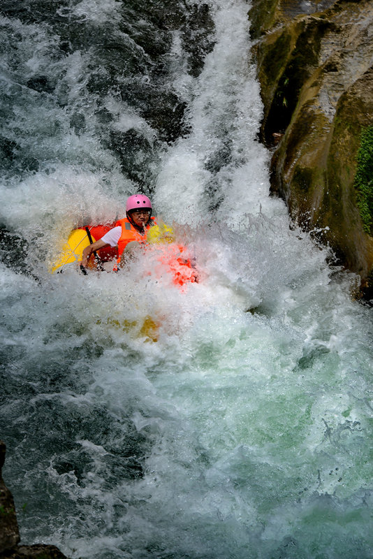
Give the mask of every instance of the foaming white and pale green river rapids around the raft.
M 249 6 L 210 4 L 202 73 L 187 75 L 176 31 L 168 60 L 191 132 L 152 162 L 156 213 L 180 224 L 200 269 L 183 293 L 144 260 L 128 274 L 47 273 L 70 228 L 122 215 L 136 184 L 100 142 L 92 53 L 53 57 L 46 26 L 13 20 L 8 137 L 43 161 L 7 175 L 1 194 L 36 277 L 1 264 L 3 473 L 22 541 L 74 559 L 368 558 L 372 317 L 351 297 L 355 278 L 269 196 Z M 99 25 L 96 3 L 71 6 Z M 105 3 L 102 24 L 118 18 Z M 17 85 L 35 68 L 54 94 Z M 112 129 L 154 136 L 112 92 L 104 105 Z M 157 342 L 139 335 L 146 315 Z

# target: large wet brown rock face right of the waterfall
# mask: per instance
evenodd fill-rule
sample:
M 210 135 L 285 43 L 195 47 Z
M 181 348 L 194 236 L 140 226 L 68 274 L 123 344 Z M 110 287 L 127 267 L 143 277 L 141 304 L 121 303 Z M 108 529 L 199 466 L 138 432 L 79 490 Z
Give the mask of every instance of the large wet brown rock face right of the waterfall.
M 273 0 L 263 10 L 258 0 L 253 10 L 272 190 L 298 224 L 318 230 L 339 261 L 367 279 L 373 237 L 354 182 L 361 134 L 373 116 L 373 4 Z

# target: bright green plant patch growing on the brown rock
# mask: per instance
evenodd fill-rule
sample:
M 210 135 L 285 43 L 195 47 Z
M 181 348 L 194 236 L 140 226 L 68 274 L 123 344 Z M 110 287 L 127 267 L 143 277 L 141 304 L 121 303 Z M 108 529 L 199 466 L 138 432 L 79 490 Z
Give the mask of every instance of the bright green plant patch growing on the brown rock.
M 373 234 L 373 126 L 367 126 L 361 133 L 358 151 L 358 168 L 354 187 L 357 205 L 366 233 Z

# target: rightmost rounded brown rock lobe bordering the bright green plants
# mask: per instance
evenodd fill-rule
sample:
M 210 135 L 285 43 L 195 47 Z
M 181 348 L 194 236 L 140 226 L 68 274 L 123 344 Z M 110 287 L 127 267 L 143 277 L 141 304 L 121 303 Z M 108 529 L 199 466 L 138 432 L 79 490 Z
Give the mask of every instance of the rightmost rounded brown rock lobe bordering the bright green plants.
M 373 115 L 373 71 L 365 73 L 345 92 L 337 105 L 332 140 L 328 150 L 327 183 L 323 202 L 316 216 L 319 224 L 330 226 L 335 232 L 333 245 L 343 254 L 345 265 L 366 278 L 373 265 L 373 238 L 369 226 L 363 222 L 356 177 L 363 187 L 367 169 L 360 164 L 359 152 L 364 144 L 365 131 L 370 130 Z M 363 136 L 362 136 L 363 134 Z M 369 134 L 369 133 L 368 133 Z M 371 136 L 371 140 L 372 140 Z M 368 151 L 369 145 L 368 143 Z M 363 145 L 366 153 L 367 146 Z M 372 152 L 370 165 L 372 168 Z M 369 169 L 369 164 L 368 164 Z M 369 172 L 369 171 L 368 171 Z M 372 175 L 371 175 L 372 176 Z M 372 192 L 372 190 L 371 190 Z M 327 200 L 328 198 L 328 200 Z M 372 212 L 372 196 L 368 207 Z M 367 217 L 370 223 L 371 214 Z

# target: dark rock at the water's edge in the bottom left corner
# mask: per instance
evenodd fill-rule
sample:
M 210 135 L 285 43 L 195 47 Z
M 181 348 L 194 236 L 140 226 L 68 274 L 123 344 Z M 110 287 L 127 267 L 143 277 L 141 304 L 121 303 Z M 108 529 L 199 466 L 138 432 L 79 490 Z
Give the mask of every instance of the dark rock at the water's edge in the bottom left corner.
M 20 532 L 13 496 L 1 475 L 5 453 L 6 445 L 0 441 L 0 559 L 66 559 L 66 556 L 55 546 L 17 545 L 20 542 Z

